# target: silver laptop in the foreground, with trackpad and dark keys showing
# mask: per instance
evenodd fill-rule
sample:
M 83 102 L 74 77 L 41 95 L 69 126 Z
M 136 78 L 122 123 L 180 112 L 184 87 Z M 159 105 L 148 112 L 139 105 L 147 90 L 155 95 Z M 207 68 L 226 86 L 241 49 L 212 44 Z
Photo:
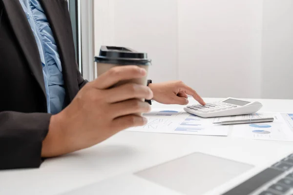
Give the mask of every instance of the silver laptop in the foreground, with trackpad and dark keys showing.
M 64 195 L 293 195 L 293 153 L 257 166 L 195 152 Z

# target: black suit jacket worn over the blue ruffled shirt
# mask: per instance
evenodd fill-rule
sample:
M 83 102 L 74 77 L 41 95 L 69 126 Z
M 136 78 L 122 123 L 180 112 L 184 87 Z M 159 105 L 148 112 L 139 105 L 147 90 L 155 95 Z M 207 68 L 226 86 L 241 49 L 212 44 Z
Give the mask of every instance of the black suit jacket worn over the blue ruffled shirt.
M 40 0 L 56 39 L 68 105 L 86 81 L 76 65 L 65 0 Z M 19 0 L 0 0 L 0 169 L 37 168 L 48 132 L 38 46 Z

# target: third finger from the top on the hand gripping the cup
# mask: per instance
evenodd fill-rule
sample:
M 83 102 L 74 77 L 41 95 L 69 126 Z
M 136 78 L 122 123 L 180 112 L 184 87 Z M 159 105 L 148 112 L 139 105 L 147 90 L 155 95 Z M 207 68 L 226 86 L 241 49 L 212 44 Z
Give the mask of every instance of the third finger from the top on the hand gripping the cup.
M 110 110 L 114 111 L 113 118 L 137 113 L 149 113 L 151 110 L 150 105 L 140 99 L 129 99 L 109 106 Z

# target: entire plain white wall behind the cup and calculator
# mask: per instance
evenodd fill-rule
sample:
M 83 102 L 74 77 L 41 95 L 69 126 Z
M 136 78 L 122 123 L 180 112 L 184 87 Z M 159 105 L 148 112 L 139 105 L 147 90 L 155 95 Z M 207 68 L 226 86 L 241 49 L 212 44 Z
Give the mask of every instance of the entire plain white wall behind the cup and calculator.
M 292 4 L 95 0 L 96 54 L 101 44 L 147 52 L 149 78 L 181 79 L 203 97 L 293 98 Z

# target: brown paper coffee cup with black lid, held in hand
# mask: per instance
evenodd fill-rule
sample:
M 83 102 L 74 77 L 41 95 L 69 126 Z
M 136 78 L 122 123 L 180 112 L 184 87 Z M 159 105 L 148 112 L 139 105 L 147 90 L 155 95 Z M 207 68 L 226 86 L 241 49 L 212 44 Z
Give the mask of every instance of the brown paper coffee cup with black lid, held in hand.
M 151 60 L 147 58 L 146 53 L 140 53 L 126 47 L 102 46 L 100 55 L 95 57 L 97 65 L 98 77 L 115 66 L 136 65 L 148 72 L 151 65 Z M 113 87 L 117 87 L 126 83 L 136 83 L 140 85 L 147 84 L 147 74 L 144 78 L 134 78 L 122 80 L 116 83 Z M 145 99 L 141 99 L 145 101 Z

